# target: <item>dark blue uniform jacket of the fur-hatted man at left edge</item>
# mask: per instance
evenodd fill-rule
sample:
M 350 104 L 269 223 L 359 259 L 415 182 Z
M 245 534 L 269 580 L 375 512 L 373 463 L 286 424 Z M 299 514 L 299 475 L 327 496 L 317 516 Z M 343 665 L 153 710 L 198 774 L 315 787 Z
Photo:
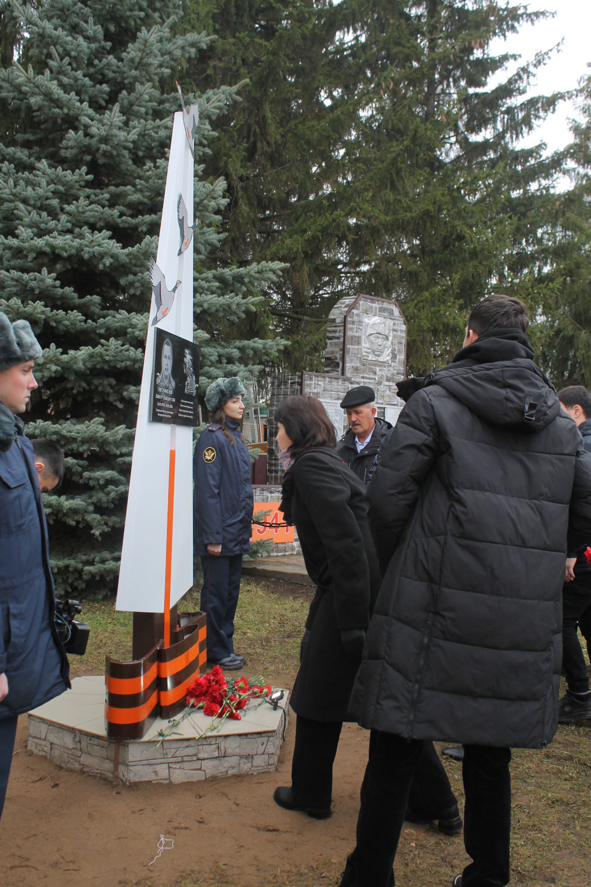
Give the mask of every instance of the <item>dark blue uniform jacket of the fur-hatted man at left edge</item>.
M 3 427 L 6 428 L 6 408 Z M 0 444 L 0 672 L 8 695 L 0 720 L 47 703 L 70 686 L 66 652 L 55 629 L 55 590 L 47 524 L 33 447 L 17 419 L 14 442 Z M 1 430 L 1 429 L 0 429 Z

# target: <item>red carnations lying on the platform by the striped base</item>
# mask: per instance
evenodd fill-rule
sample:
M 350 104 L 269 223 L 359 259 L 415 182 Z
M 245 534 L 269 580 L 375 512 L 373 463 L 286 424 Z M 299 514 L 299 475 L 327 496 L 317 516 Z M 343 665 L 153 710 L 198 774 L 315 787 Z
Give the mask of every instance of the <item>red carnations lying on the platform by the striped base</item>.
M 253 684 L 244 677 L 226 680 L 220 666 L 214 665 L 187 689 L 187 705 L 203 709 L 204 715 L 210 718 L 240 720 L 240 711 L 246 703 L 272 693 L 269 684 L 257 683 L 258 680 L 253 678 Z

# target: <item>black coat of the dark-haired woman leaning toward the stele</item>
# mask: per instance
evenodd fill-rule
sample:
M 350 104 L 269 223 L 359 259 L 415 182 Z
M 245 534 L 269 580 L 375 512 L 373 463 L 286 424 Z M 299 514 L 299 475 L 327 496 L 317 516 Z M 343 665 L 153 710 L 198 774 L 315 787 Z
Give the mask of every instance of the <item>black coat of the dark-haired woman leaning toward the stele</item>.
M 346 654 L 340 632 L 367 628 L 380 583 L 365 487 L 334 450 L 318 447 L 285 473 L 283 492 L 316 585 L 290 703 L 304 718 L 354 720 L 348 702 L 361 660 Z

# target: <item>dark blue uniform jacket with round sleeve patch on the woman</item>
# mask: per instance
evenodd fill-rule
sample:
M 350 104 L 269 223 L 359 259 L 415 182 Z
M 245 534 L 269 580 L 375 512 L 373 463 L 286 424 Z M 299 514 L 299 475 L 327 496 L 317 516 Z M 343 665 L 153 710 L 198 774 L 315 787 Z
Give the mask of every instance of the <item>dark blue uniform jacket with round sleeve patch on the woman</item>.
M 193 459 L 193 538 L 196 554 L 222 543 L 222 557 L 247 554 L 253 535 L 253 487 L 248 448 L 238 423 L 226 425 L 236 438 L 229 441 L 220 425 L 210 425 L 199 437 Z

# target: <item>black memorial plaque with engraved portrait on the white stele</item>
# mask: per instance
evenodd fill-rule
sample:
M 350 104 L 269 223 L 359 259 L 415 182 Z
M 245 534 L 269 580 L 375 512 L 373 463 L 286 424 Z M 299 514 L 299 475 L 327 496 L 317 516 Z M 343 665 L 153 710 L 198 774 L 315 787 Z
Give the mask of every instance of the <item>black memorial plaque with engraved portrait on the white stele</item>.
M 156 328 L 150 419 L 168 425 L 198 425 L 199 346 Z

